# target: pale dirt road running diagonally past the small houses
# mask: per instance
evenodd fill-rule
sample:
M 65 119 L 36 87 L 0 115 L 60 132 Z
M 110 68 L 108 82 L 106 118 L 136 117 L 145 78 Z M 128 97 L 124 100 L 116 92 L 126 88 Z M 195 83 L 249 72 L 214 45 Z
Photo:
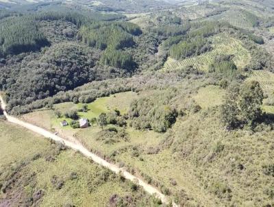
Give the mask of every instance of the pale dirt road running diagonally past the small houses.
M 164 204 L 169 203 L 168 197 L 166 197 L 164 194 L 160 193 L 160 191 L 157 188 L 147 184 L 142 179 L 140 179 L 140 178 L 136 177 L 135 175 L 132 175 L 131 173 L 119 168 L 118 166 L 113 165 L 112 163 L 110 163 L 106 160 L 103 160 L 102 158 L 100 158 L 96 154 L 93 154 L 92 152 L 88 151 L 88 149 L 86 149 L 80 143 L 78 143 L 78 142 L 74 143 L 74 142 L 71 142 L 71 141 L 67 141 L 66 139 L 64 139 L 60 136 L 57 136 L 57 135 L 53 134 L 52 132 L 49 132 L 49 131 L 41 128 L 41 127 L 38 127 L 36 125 L 32 125 L 30 123 L 27 123 L 25 121 L 21 121 L 19 119 L 16 119 L 15 117 L 10 116 L 5 111 L 5 102 L 3 101 L 3 97 L 1 97 L 1 95 L 0 95 L 0 102 L 1 102 L 1 108 L 3 110 L 3 113 L 6 117 L 6 119 L 8 121 L 10 121 L 11 123 L 21 125 L 22 127 L 25 127 L 28 130 L 36 132 L 37 134 L 45 136 L 46 138 L 49 138 L 53 141 L 60 142 L 60 143 L 66 145 L 67 147 L 69 147 L 71 149 L 74 149 L 76 151 L 81 152 L 82 154 L 84 154 L 84 156 L 86 156 L 88 158 L 91 158 L 94 162 L 97 162 L 99 165 L 102 165 L 103 167 L 106 167 L 106 168 L 110 169 L 114 173 L 121 173 L 123 175 L 123 177 L 125 177 L 125 179 L 131 180 L 132 182 L 137 182 L 137 184 L 139 186 L 142 186 L 147 193 L 149 193 L 151 195 L 154 194 L 156 197 L 160 198 L 162 200 L 162 203 L 164 203 Z M 176 207 L 177 205 L 175 203 L 173 203 L 173 206 Z

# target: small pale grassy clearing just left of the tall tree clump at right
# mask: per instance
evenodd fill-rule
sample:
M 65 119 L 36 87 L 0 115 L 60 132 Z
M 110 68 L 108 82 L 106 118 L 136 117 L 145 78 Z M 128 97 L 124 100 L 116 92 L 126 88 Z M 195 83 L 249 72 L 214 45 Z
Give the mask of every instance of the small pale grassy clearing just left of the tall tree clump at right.
M 213 106 L 219 106 L 223 102 L 223 96 L 225 90 L 219 86 L 206 86 L 200 88 L 194 99 L 197 101 L 201 108 L 210 108 Z

